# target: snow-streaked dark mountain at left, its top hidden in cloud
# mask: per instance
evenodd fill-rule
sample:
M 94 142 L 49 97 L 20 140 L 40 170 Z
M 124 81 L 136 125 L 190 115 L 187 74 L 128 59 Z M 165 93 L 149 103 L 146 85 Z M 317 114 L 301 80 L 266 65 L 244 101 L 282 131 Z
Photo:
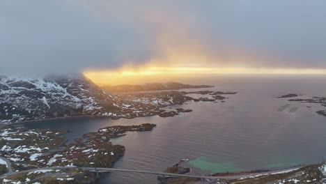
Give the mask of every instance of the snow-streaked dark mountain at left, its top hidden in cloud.
M 156 111 L 141 103 L 128 104 L 84 75 L 38 79 L 0 76 L 0 123 L 67 116 L 149 116 Z

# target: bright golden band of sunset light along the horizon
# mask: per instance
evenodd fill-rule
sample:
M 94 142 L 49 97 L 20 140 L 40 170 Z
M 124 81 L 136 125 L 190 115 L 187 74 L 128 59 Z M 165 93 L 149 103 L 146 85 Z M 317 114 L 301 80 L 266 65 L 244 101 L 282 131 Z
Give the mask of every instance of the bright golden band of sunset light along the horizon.
M 178 77 L 214 74 L 262 74 L 262 75 L 326 75 L 326 69 L 298 68 L 208 68 L 208 67 L 144 67 L 120 70 L 87 70 L 86 77 L 98 85 L 141 84 L 166 82 Z

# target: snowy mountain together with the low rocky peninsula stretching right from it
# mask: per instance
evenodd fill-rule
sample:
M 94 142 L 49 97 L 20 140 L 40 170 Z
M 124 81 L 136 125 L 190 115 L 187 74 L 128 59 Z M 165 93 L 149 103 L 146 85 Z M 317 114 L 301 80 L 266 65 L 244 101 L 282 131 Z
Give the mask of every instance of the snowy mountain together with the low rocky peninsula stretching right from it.
M 235 92 L 163 91 L 119 93 L 113 95 L 83 75 L 48 77 L 45 79 L 0 80 L 0 126 L 11 123 L 54 120 L 60 118 L 136 118 L 159 115 L 176 116 L 180 112 L 165 112 L 160 108 L 182 105 L 187 101 L 224 102 Z M 191 86 L 187 88 L 212 87 Z M 173 86 L 180 86 L 174 85 Z M 182 85 L 181 85 L 182 86 Z M 184 87 L 185 87 L 184 86 Z M 212 98 L 192 98 L 189 94 L 210 95 Z M 189 111 L 187 111 L 189 112 Z

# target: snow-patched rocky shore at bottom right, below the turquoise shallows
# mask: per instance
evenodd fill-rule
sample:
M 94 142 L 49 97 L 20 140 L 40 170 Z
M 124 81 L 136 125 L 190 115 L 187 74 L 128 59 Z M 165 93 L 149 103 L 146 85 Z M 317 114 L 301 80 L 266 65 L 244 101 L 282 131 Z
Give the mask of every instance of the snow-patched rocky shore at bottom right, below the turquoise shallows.
M 180 169 L 180 170 L 179 170 Z M 190 171 L 189 168 L 179 167 L 177 164 L 166 169 L 167 172 L 178 173 L 179 171 Z M 312 183 L 321 184 L 326 180 L 326 164 L 310 164 L 306 166 L 291 167 L 281 170 L 256 170 L 242 172 L 225 172 L 208 174 L 205 176 L 216 176 L 217 178 L 162 178 L 157 179 L 166 184 L 185 184 L 185 183 L 219 183 L 219 184 L 295 184 Z

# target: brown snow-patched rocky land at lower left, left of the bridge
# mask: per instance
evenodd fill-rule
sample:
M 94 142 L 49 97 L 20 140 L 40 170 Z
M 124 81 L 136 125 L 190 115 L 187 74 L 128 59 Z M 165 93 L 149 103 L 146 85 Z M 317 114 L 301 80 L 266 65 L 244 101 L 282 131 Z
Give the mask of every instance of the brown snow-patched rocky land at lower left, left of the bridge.
M 101 175 L 79 171 L 74 167 L 113 167 L 124 155 L 125 147 L 111 144 L 110 139 L 121 137 L 130 131 L 150 131 L 155 126 L 150 123 L 109 126 L 65 145 L 65 138 L 60 136 L 65 130 L 28 129 L 24 126 L 8 125 L 0 130 L 0 155 L 11 161 L 8 167 L 12 167 L 13 171 L 54 166 L 71 169 L 36 171 L 29 174 L 11 173 L 10 176 L 0 178 L 0 181 L 49 183 L 62 178 L 60 183 L 93 183 Z M 45 174 L 52 176 L 44 177 Z

